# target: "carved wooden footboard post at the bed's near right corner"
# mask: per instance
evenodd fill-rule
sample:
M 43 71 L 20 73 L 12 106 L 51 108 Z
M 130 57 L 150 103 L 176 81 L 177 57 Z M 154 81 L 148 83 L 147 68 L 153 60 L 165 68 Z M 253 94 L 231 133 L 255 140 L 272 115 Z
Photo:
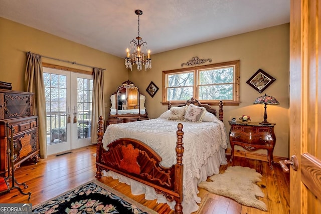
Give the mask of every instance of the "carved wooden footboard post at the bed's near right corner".
M 183 201 L 183 152 L 184 152 L 184 147 L 183 147 L 183 124 L 179 123 L 177 125 L 177 142 L 176 142 L 176 160 L 177 163 L 175 165 L 175 177 L 178 179 L 175 179 L 175 191 L 179 193 L 180 197 L 175 197 L 175 214 L 178 213 L 183 213 L 183 206 L 182 206 L 182 201 Z

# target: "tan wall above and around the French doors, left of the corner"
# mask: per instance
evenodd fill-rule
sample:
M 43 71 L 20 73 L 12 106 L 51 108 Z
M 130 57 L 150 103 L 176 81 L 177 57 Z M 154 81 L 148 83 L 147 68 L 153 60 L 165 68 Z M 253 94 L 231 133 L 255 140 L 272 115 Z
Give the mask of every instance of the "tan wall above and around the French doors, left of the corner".
M 83 65 L 105 68 L 105 113 L 109 112 L 109 96 L 128 79 L 124 59 L 89 48 L 43 31 L 0 18 L 0 81 L 12 83 L 12 90 L 23 91 L 26 70 L 26 52 Z M 57 60 L 42 58 L 43 62 L 92 71 Z M 109 106 L 109 107 L 108 107 Z M 106 118 L 105 115 L 105 118 Z

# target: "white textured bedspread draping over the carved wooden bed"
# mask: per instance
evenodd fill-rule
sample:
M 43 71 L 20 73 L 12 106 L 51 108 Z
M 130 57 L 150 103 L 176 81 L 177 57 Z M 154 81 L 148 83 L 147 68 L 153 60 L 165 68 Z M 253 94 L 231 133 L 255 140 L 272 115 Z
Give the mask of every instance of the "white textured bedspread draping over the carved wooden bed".
M 219 173 L 221 164 L 227 164 L 224 152 L 227 147 L 227 135 L 224 124 L 221 121 L 187 122 L 157 118 L 112 124 L 106 129 L 103 145 L 106 148 L 109 142 L 122 137 L 138 139 L 154 149 L 163 158 L 161 164 L 169 167 L 176 164 L 175 147 L 178 123 L 183 124 L 184 131 L 183 211 L 184 213 L 191 213 L 198 209 L 196 203 L 200 203 L 200 198 L 197 196 L 197 184 L 206 180 L 207 176 Z M 108 175 L 112 175 L 114 178 L 117 177 L 113 172 L 108 172 Z M 131 181 L 126 181 L 126 178 L 123 177 L 122 179 L 126 183 L 129 182 L 128 184 L 132 184 Z M 158 196 L 158 201 L 165 202 Z M 174 208 L 174 203 L 169 204 Z

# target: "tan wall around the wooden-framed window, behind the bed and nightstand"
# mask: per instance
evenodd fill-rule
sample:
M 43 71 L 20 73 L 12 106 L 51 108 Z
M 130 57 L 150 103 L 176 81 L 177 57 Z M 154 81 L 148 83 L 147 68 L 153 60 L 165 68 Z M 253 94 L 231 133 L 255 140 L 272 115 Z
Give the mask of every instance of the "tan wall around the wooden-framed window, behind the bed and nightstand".
M 224 106 L 224 123 L 227 132 L 230 130 L 228 120 L 232 117 L 239 118 L 245 114 L 249 115 L 252 121 L 263 121 L 264 106 L 252 104 L 257 97 L 266 93 L 278 100 L 280 105 L 267 106 L 267 120 L 276 123 L 274 155 L 288 157 L 289 24 L 151 55 L 152 69 L 147 72 L 145 70 L 138 72 L 135 69 L 129 71 L 129 79 L 146 96 L 146 109 L 150 118 L 156 118 L 167 110 L 167 106 L 161 104 L 162 71 L 182 68 L 181 63 L 185 63 L 195 56 L 200 59 L 211 58 L 212 63 L 241 61 L 241 103 L 239 106 Z M 261 94 L 246 83 L 258 69 L 262 69 L 276 79 Z M 153 98 L 145 91 L 150 81 L 153 81 L 159 87 Z M 242 148 L 240 150 L 243 151 Z M 257 152 L 266 154 L 266 150 Z

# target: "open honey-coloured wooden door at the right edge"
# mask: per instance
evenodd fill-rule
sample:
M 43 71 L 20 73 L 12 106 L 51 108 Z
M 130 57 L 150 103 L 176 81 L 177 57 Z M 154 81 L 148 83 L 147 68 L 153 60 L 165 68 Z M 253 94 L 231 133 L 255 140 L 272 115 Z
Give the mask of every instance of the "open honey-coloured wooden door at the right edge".
M 321 213 L 321 0 L 291 0 L 291 213 Z

